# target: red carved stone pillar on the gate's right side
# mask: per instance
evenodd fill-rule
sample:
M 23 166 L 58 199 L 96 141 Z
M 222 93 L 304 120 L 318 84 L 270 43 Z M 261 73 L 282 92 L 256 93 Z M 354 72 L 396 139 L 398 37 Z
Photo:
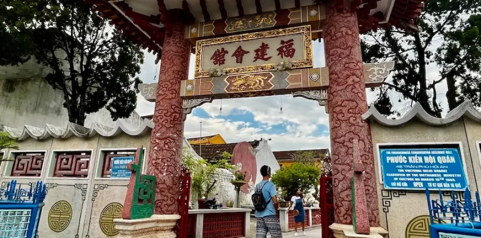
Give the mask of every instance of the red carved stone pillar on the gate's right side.
M 335 221 L 352 224 L 352 149 L 353 140 L 357 139 L 359 153 L 366 168 L 364 187 L 369 223 L 370 226 L 377 227 L 379 208 L 371 128 L 361 119 L 368 106 L 362 72 L 358 18 L 355 12 L 337 10 L 336 1 L 339 0 L 331 0 L 326 6 L 326 25 L 323 30 L 326 66 L 329 67 L 327 107 L 332 149 Z

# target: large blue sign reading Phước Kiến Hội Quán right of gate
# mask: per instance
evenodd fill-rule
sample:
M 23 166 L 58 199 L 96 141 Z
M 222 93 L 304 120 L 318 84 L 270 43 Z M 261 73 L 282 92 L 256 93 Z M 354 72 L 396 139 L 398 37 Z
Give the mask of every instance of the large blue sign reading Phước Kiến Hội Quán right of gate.
M 467 187 L 459 149 L 380 149 L 379 154 L 386 189 Z

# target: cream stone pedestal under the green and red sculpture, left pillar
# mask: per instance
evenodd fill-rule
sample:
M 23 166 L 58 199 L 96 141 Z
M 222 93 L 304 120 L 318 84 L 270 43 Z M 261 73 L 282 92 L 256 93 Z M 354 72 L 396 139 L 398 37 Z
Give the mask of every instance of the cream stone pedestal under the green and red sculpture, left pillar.
M 116 238 L 175 238 L 172 229 L 179 219 L 179 215 L 153 215 L 135 220 L 114 219 L 115 228 L 119 231 Z

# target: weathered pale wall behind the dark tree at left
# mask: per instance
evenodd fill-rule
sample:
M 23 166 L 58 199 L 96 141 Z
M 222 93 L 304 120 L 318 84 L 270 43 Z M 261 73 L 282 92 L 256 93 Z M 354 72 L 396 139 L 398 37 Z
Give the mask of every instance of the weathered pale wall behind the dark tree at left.
M 65 54 L 58 55 L 65 57 Z M 66 67 L 68 65 L 63 66 Z M 19 66 L 0 66 L 0 129 L 24 125 L 43 128 L 46 123 L 67 126 L 69 114 L 63 107 L 63 92 L 44 80 L 49 71 L 50 68 L 37 64 L 35 58 Z M 143 122 L 135 111 L 125 120 L 137 127 Z M 85 125 L 90 126 L 92 121 L 109 127 L 115 125 L 105 108 L 87 114 Z

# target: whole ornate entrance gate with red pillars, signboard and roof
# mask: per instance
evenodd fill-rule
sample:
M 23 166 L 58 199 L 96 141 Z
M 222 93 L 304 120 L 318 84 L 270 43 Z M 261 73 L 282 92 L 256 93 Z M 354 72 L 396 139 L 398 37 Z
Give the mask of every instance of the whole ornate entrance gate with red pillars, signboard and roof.
M 140 85 L 155 101 L 148 173 L 156 174 L 155 214 L 178 213 L 185 116 L 213 99 L 291 93 L 327 104 L 336 222 L 352 224 L 348 196 L 353 140 L 366 165 L 367 201 L 377 201 L 365 88 L 382 83 L 393 62 L 362 64 L 360 31 L 380 25 L 412 31 L 422 0 L 86 0 L 126 37 L 162 59 L 157 85 Z M 275 30 L 273 30 L 275 29 Z M 249 33 L 250 32 L 250 33 Z M 242 34 L 247 33 L 247 34 Z M 325 68 L 312 68 L 311 39 L 324 39 Z M 195 46 L 195 79 L 188 80 Z M 378 204 L 369 203 L 371 227 Z

